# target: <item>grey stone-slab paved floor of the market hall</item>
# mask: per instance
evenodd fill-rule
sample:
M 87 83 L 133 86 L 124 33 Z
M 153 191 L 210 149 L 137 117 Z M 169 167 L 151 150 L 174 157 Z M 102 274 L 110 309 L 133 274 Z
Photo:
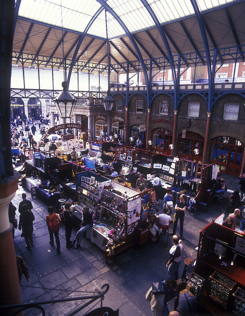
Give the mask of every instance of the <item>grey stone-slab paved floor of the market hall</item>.
M 227 188 L 240 189 L 239 179 L 234 176 L 224 175 Z M 21 193 L 31 194 L 20 186 L 12 202 L 17 207 L 21 202 Z M 222 209 L 229 205 L 230 193 L 224 195 L 223 205 L 212 201 L 208 205 L 208 212 L 196 211 L 185 215 L 184 221 L 184 250 L 182 253 L 182 264 L 179 270 L 179 277 L 182 276 L 184 259 L 195 258 L 198 246 L 200 229 L 204 228 L 212 218 L 221 214 Z M 47 206 L 41 200 L 34 199 L 33 214 L 34 221 L 34 246 L 33 249 L 25 248 L 24 238 L 21 238 L 21 231 L 15 229 L 15 251 L 26 261 L 30 271 L 30 281 L 27 283 L 23 276 L 21 281 L 21 294 L 23 302 L 31 301 L 52 301 L 54 298 L 65 298 L 68 296 L 83 295 L 83 292 L 98 291 L 104 283 L 109 283 L 110 289 L 105 294 L 104 306 L 116 310 L 119 308 L 121 316 L 152 315 L 150 304 L 145 299 L 147 290 L 152 282 L 166 279 L 166 261 L 169 249 L 172 246 L 168 243 L 166 248 L 166 237 L 161 236 L 156 245 L 146 242 L 142 246 L 130 248 L 127 253 L 121 253 L 105 263 L 104 252 L 92 244 L 90 240 L 83 238 L 82 250 L 66 249 L 65 229 L 60 227 L 61 253 L 56 252 L 56 247 L 49 244 L 49 234 L 45 222 Z M 163 201 L 159 202 L 159 209 L 162 210 Z M 19 213 L 16 211 L 16 215 Z M 17 217 L 18 222 L 19 218 Z M 172 224 L 171 224 L 172 225 Z M 240 225 L 237 221 L 237 227 Z M 170 229 L 171 232 L 171 229 Z M 72 231 L 75 236 L 76 231 Z M 179 225 L 177 234 L 179 233 Z M 75 292 L 76 291 L 76 292 Z M 71 301 L 65 303 L 52 303 L 43 306 L 46 315 L 66 315 L 77 308 L 84 301 Z M 99 307 L 100 302 L 96 301 L 89 307 L 84 308 L 77 315 L 84 315 L 91 309 Z M 170 301 L 170 310 L 173 308 L 173 300 Z M 38 310 L 28 310 L 25 315 L 40 314 Z

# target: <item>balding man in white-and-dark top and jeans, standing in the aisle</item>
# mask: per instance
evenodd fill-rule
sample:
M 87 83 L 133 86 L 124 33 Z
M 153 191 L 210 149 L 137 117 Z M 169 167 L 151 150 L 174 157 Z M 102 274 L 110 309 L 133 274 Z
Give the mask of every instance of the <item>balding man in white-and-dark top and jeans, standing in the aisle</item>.
M 181 254 L 183 250 L 182 241 L 179 240 L 177 235 L 173 235 L 172 239 L 174 245 L 171 247 L 169 251 L 169 260 L 166 265 L 168 268 L 167 279 L 178 280 L 179 278 L 179 265 L 181 263 Z

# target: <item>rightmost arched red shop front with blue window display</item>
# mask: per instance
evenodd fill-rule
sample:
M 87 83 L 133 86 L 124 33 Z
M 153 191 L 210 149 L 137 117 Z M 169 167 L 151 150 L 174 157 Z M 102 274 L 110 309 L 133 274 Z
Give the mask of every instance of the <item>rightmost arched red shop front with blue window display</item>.
M 209 161 L 215 162 L 220 172 L 240 175 L 244 144 L 233 137 L 221 136 L 211 140 L 210 149 Z

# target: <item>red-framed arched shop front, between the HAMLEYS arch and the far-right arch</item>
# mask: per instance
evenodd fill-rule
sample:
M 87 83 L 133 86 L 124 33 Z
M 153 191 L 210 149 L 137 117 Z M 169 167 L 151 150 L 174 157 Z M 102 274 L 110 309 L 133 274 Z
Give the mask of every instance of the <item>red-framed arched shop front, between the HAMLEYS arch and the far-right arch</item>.
M 186 132 L 185 138 L 182 133 L 178 135 L 177 156 L 179 158 L 188 158 L 191 161 L 202 162 L 204 137 L 195 132 Z M 199 154 L 194 154 L 194 149 L 199 149 Z

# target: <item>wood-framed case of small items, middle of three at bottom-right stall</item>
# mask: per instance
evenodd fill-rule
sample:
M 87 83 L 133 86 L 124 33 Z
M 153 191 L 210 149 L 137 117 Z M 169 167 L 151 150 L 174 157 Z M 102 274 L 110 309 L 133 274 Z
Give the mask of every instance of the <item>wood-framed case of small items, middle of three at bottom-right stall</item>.
M 236 282 L 228 279 L 217 271 L 214 271 L 209 278 L 209 297 L 226 309 Z

